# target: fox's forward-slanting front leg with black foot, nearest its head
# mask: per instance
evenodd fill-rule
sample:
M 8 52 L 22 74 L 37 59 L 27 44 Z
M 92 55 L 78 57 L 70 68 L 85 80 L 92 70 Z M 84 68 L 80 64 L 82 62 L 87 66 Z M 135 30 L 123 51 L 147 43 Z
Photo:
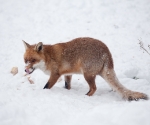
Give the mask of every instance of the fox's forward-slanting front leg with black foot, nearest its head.
M 50 89 L 53 87 L 53 85 L 57 82 L 57 80 L 59 79 L 60 75 L 58 73 L 55 74 L 51 74 L 48 82 L 46 83 L 46 85 L 44 86 L 43 89 Z

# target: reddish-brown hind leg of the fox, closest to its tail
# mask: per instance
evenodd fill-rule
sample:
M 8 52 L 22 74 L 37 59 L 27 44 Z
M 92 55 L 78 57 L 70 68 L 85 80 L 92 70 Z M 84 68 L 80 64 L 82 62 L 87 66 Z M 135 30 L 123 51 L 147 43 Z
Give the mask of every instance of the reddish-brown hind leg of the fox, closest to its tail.
M 95 77 L 96 77 L 96 75 L 90 75 L 88 73 L 84 74 L 84 78 L 85 78 L 85 80 L 87 81 L 87 83 L 89 84 L 89 87 L 90 87 L 89 92 L 86 94 L 88 96 L 92 96 L 96 91 Z

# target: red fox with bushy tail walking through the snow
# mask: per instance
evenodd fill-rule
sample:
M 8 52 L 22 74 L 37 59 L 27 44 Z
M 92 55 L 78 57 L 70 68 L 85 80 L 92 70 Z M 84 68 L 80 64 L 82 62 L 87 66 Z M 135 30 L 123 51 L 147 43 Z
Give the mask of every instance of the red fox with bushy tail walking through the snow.
M 43 89 L 51 89 L 64 75 L 65 88 L 70 90 L 72 75 L 82 74 L 89 85 L 86 95 L 92 96 L 97 90 L 95 78 L 98 75 L 125 100 L 148 99 L 146 94 L 129 90 L 120 83 L 114 71 L 112 55 L 98 39 L 79 37 L 54 45 L 43 45 L 42 42 L 30 45 L 24 40 L 23 43 L 25 72 L 31 74 L 40 69 L 50 76 Z

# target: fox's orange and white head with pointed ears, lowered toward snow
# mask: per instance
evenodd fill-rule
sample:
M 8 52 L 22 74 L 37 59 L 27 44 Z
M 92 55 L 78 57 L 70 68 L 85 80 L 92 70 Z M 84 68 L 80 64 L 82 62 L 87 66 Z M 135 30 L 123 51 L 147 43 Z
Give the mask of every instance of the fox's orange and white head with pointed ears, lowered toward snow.
M 23 43 L 26 50 L 24 54 L 25 72 L 31 74 L 36 68 L 41 66 L 41 62 L 44 60 L 43 43 L 39 42 L 36 45 L 29 45 L 25 41 Z

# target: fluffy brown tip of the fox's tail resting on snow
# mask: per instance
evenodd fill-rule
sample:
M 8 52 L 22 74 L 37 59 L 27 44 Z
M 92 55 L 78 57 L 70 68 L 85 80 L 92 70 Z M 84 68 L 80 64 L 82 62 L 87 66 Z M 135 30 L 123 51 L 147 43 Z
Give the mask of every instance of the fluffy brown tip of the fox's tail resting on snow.
M 133 91 L 125 91 L 123 94 L 123 98 L 128 101 L 138 101 L 139 99 L 148 100 L 148 96 L 146 94 Z

